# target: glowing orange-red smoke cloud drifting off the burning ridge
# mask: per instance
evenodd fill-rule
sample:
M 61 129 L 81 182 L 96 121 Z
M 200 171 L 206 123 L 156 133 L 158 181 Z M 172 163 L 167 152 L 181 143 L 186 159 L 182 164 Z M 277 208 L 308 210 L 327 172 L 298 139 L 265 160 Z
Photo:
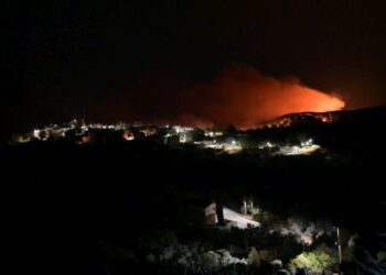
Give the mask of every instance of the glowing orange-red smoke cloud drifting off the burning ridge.
M 344 108 L 339 97 L 305 87 L 297 78 L 277 79 L 243 66 L 222 72 L 213 81 L 201 82 L 181 95 L 184 113 L 174 121 L 195 124 L 254 128 L 292 112 L 325 112 Z

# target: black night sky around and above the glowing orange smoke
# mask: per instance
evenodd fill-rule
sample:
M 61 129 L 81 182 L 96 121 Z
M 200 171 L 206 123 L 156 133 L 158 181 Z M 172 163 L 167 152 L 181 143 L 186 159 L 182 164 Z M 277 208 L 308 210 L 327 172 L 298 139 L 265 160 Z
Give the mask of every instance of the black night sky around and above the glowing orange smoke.
M 383 2 L 2 1 L 1 120 L 216 121 L 195 106 L 212 108 L 207 86 L 239 67 L 339 94 L 350 109 L 385 105 Z

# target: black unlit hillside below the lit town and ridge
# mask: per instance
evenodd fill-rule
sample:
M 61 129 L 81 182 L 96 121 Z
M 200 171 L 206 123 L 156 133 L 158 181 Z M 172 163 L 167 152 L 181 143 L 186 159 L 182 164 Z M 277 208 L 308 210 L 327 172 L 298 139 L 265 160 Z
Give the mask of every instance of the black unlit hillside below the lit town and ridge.
M 213 250 L 236 245 L 239 238 L 248 243 L 238 246 L 275 246 L 275 240 L 256 241 L 240 232 L 238 238 L 216 239 L 221 233 L 205 226 L 200 207 L 213 200 L 237 206 L 244 196 L 282 219 L 329 219 L 356 232 L 361 245 L 375 253 L 376 232 L 385 232 L 386 109 L 334 116 L 332 123 L 249 130 L 246 148 L 237 155 L 193 145 L 170 148 L 151 138 L 94 145 L 2 145 L 3 227 L 13 270 L 183 274 L 179 267 L 146 262 L 151 244 L 143 243 L 154 232 L 159 240 L 173 232 L 181 243 L 194 240 Z M 268 156 L 253 145 L 299 135 L 312 136 L 325 152 Z M 281 249 L 286 261 L 290 248 Z

